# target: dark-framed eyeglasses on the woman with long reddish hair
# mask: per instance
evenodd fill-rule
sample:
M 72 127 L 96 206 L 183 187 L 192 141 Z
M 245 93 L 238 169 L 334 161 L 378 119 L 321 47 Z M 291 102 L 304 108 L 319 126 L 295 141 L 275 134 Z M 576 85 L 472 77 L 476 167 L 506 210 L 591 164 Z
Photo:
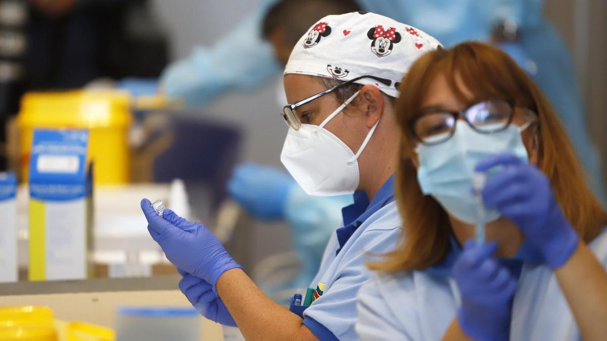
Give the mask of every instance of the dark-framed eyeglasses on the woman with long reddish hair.
M 495 133 L 506 129 L 514 117 L 515 101 L 489 100 L 472 104 L 459 112 L 430 109 L 409 120 L 413 136 L 423 144 L 433 145 L 449 140 L 455 133 L 456 122 L 463 118 L 472 129 L 480 133 Z M 527 109 L 524 111 L 528 122 L 537 116 Z

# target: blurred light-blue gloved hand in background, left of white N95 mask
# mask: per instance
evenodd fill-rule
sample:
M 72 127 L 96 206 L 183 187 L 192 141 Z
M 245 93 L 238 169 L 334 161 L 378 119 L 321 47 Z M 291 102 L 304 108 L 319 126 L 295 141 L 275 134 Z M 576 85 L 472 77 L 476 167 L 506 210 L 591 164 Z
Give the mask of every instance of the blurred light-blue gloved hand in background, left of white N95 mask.
M 270 166 L 245 163 L 237 166 L 228 192 L 251 215 L 262 219 L 283 218 L 285 202 L 295 180 Z

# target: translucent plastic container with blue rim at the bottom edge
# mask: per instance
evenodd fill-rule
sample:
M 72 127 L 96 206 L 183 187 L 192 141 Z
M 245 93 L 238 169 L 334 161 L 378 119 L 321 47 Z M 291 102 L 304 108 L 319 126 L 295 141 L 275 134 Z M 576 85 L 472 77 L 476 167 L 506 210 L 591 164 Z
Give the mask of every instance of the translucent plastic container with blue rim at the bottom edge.
M 193 308 L 118 308 L 116 341 L 198 341 L 200 315 Z

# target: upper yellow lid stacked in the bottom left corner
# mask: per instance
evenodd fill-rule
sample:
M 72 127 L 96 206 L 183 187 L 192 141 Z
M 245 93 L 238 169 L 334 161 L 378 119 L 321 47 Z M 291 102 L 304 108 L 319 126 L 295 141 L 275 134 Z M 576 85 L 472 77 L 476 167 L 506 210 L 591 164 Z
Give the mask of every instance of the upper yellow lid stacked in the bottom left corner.
M 0 308 L 0 328 L 52 326 L 53 311 L 46 306 L 5 306 Z

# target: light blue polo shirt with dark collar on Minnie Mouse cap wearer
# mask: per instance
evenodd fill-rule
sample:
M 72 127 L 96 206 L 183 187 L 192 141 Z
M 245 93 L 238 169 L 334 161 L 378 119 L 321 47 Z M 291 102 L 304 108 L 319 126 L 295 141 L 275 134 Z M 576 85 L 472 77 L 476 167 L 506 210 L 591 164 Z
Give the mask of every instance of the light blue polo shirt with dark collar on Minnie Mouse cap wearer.
M 304 311 L 304 325 L 320 340 L 358 339 L 356 294 L 371 277 L 365 262 L 392 251 L 401 232 L 393 186 L 392 176 L 370 203 L 364 192 L 356 192 L 354 203 L 342 209 L 344 226 L 331 236 L 310 284 L 324 284 L 324 292 Z

